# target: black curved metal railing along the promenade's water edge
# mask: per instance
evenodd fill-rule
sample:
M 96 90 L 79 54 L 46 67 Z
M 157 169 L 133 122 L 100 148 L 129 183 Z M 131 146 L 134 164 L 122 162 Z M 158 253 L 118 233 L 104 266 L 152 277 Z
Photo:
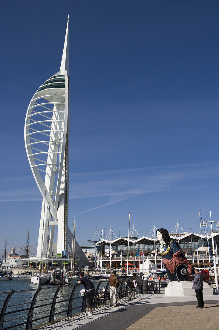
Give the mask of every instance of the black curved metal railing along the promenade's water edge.
M 124 278 L 120 282 L 120 286 L 117 291 L 117 299 L 122 299 L 128 297 L 130 289 L 131 278 Z M 105 291 L 100 290 L 99 281 L 95 289 L 94 294 L 94 308 L 100 305 L 106 305 L 110 298 L 109 282 L 106 284 Z M 137 294 L 149 294 L 149 293 L 164 293 L 165 287 L 168 284 L 168 279 L 164 281 L 163 278 L 149 278 L 145 280 L 142 278 L 140 283 L 137 283 L 136 293 Z M 7 330 L 12 328 L 17 329 L 32 329 L 34 326 L 40 325 L 39 321 L 43 319 L 48 319 L 47 322 L 53 323 L 55 319 L 59 318 L 60 314 L 65 314 L 60 317 L 72 316 L 76 312 L 84 312 L 86 310 L 85 306 L 85 294 L 82 296 L 80 292 L 75 292 L 78 284 L 69 284 L 67 288 L 71 288 L 71 292 L 65 292 L 65 286 L 59 285 L 58 287 L 38 287 L 37 289 L 28 290 L 11 290 L 9 292 L 2 292 L 0 295 L 7 295 L 3 306 L 0 308 L 0 330 Z M 58 297 L 61 290 L 61 295 Z M 47 290 L 55 290 L 55 294 L 50 295 L 50 297 L 42 297 L 45 299 L 37 300 L 38 294 L 41 292 L 47 292 Z M 20 302 L 19 304 L 9 305 L 10 299 L 18 293 L 34 293 L 31 301 Z M 67 294 L 65 294 L 67 293 Z M 0 296 L 1 297 L 1 296 Z M 28 297 L 28 294 L 26 294 Z M 12 299 L 13 300 L 13 299 Z M 12 317 L 12 318 L 10 318 Z M 22 320 L 23 319 L 23 320 Z M 20 323 L 16 323 L 19 322 Z M 37 322 L 37 323 L 36 323 Z M 42 324 L 42 323 L 41 323 Z M 4 326 L 4 328 L 3 328 Z

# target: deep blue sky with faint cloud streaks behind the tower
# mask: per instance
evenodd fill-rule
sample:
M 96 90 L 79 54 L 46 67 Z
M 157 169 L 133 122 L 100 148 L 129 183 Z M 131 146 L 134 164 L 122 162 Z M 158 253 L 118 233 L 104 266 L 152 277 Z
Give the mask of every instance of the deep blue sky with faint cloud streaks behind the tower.
M 218 1 L 10 1 L 1 5 L 1 233 L 37 243 L 41 195 L 23 130 L 59 71 L 70 15 L 69 226 L 87 244 L 219 220 Z

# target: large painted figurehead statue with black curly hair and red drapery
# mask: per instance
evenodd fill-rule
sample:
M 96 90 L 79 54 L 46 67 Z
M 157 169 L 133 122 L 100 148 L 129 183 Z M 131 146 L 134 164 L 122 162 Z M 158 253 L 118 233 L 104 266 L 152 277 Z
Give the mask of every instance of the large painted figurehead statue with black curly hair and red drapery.
M 160 254 L 170 281 L 192 281 L 195 274 L 193 266 L 186 259 L 179 244 L 170 238 L 168 230 L 157 230 L 157 239 L 160 243 Z

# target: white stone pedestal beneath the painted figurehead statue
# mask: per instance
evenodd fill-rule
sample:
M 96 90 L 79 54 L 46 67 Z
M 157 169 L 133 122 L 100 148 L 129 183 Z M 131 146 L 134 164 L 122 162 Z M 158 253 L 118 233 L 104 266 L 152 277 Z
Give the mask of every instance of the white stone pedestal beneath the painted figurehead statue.
M 193 283 L 190 281 L 169 282 L 165 288 L 165 296 L 183 297 L 195 296 L 195 290 L 192 289 Z M 213 295 L 213 288 L 210 288 L 206 282 L 203 282 L 203 296 Z

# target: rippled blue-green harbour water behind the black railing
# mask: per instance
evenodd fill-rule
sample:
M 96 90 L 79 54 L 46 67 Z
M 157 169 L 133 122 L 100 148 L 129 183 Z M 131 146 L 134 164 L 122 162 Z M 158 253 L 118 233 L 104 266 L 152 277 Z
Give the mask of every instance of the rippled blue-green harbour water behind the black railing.
M 99 281 L 92 281 L 92 282 L 96 288 Z M 104 286 L 106 286 L 106 283 L 107 283 L 106 281 L 103 281 L 100 284 L 100 290 Z M 57 286 L 51 286 L 51 285 L 42 285 L 41 287 L 42 287 L 42 290 L 39 292 L 39 294 L 37 296 L 37 301 L 36 301 L 35 306 L 49 304 L 49 303 L 50 303 L 50 305 L 45 306 L 45 307 L 39 307 L 39 308 L 35 309 L 33 319 L 49 315 L 52 298 L 57 289 Z M 44 290 L 44 288 L 46 288 L 46 287 L 48 287 L 48 289 Z M 66 305 L 68 305 L 68 301 L 61 302 L 61 303 L 58 303 L 58 302 L 61 300 L 69 299 L 73 287 L 74 287 L 74 285 L 64 285 L 61 287 L 58 297 L 57 297 L 57 305 L 56 305 L 56 309 L 55 309 L 56 313 L 67 310 L 68 306 L 66 306 Z M 37 289 L 37 288 L 38 288 L 38 286 L 35 284 L 32 284 L 31 281 L 16 280 L 16 281 L 1 281 L 0 282 L 0 292 L 9 292 L 11 290 L 14 290 L 14 291 L 29 290 L 29 289 Z M 80 297 L 80 298 L 73 300 L 72 309 L 73 308 L 76 308 L 76 309 L 74 309 L 72 311 L 72 314 L 75 314 L 75 313 L 78 313 L 81 311 L 82 296 L 80 296 L 79 292 L 83 288 L 84 288 L 83 285 L 78 285 L 76 287 L 74 298 L 76 298 L 76 297 Z M 35 290 L 27 291 L 27 292 L 15 292 L 9 301 L 9 304 L 7 307 L 7 312 L 11 312 L 11 311 L 18 310 L 18 309 L 29 308 L 35 292 L 36 292 Z M 3 303 L 6 299 L 6 297 L 7 297 L 7 294 L 0 294 L 0 309 L 3 306 Z M 40 300 L 43 300 L 43 301 L 40 302 Z M 22 303 L 25 303 L 25 305 L 14 306 L 17 304 L 22 304 Z M 39 312 L 42 312 L 42 313 L 39 313 Z M 39 313 L 39 314 L 37 314 L 37 313 Z M 66 314 L 67 314 L 67 312 L 64 312 L 63 314 L 60 313 L 58 315 L 55 315 L 55 320 L 66 316 Z M 4 328 L 18 324 L 18 323 L 25 322 L 27 320 L 27 316 L 25 316 L 25 315 L 28 315 L 28 310 L 19 312 L 19 313 L 15 313 L 15 314 L 5 315 Z M 24 316 L 24 317 L 20 318 L 21 316 Z M 15 319 L 15 318 L 17 318 L 17 319 Z M 14 320 L 8 321 L 10 319 L 14 319 Z M 33 322 L 33 327 L 48 322 L 48 319 L 49 319 L 49 317 L 44 318 L 42 320 L 38 320 L 36 322 Z M 17 326 L 14 329 L 17 329 L 17 330 L 24 329 L 24 325 Z

